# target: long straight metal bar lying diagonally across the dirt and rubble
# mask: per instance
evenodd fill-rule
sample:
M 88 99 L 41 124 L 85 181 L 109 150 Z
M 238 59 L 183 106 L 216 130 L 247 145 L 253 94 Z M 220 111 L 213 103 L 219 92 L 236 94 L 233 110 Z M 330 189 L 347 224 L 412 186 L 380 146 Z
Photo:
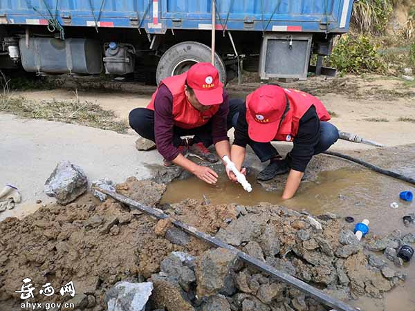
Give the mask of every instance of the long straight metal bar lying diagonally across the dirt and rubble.
M 138 209 L 139 211 L 149 214 L 150 216 L 154 216 L 155 218 L 158 218 L 158 219 L 170 218 L 167 214 L 164 214 L 163 211 L 160 211 L 159 209 L 153 209 L 151 207 L 147 207 L 145 205 L 142 205 L 140 202 L 131 200 L 130 198 L 127 198 L 126 196 L 122 196 L 121 194 L 117 194 L 116 192 L 101 189 L 100 187 L 92 187 L 92 189 L 96 191 L 100 191 L 102 192 L 102 194 L 107 194 L 108 196 L 111 196 L 111 198 L 128 205 L 129 207 L 131 207 L 131 209 Z M 328 294 L 322 292 L 321 290 L 317 290 L 317 288 L 314 288 L 313 286 L 295 278 L 294 276 L 281 272 L 275 269 L 275 267 L 266 265 L 262 261 L 259 261 L 256 258 L 244 252 L 241 252 L 236 247 L 223 243 L 223 241 L 219 240 L 219 238 L 214 238 L 213 236 L 210 236 L 209 234 L 200 232 L 195 227 L 182 223 L 181 221 L 176 220 L 174 218 L 170 218 L 170 219 L 172 220 L 173 225 L 182 229 L 184 232 L 187 232 L 187 234 L 190 234 L 191 236 L 195 236 L 196 238 L 199 238 L 205 243 L 209 243 L 210 245 L 213 245 L 214 247 L 222 247 L 222 248 L 229 249 L 230 251 L 237 253 L 239 258 L 243 262 L 247 263 L 248 265 L 251 265 L 252 267 L 256 267 L 258 270 L 265 272 L 266 274 L 270 276 L 275 277 L 275 279 L 277 279 L 278 281 L 281 281 L 283 283 L 293 286 L 294 288 L 297 288 L 297 290 L 300 290 L 312 296 L 314 299 L 316 299 L 317 301 L 320 301 L 324 305 L 327 305 L 331 308 L 335 308 L 335 310 L 337 311 L 359 311 L 358 309 L 352 307 L 351 305 L 348 305 L 347 303 L 344 303 L 343 301 L 340 301 L 339 299 L 335 299 L 329 296 Z

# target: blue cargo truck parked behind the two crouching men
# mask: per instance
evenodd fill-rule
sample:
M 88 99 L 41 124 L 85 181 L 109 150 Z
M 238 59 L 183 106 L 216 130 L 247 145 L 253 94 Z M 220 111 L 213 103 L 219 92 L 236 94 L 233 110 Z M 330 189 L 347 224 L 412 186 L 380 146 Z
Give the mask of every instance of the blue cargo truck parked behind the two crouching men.
M 352 9 L 353 0 L 0 0 L 0 69 L 158 83 L 210 62 L 214 41 L 223 82 L 241 66 L 305 79 L 333 73 L 322 60 Z

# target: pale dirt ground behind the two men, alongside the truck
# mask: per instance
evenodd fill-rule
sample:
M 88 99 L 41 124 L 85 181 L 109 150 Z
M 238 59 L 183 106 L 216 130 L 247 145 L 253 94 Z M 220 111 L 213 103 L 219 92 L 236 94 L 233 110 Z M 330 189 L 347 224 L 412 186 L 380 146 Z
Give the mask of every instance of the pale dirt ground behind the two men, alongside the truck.
M 244 98 L 261 85 L 250 73 L 246 75 L 243 84 L 238 85 L 234 80 L 228 84 L 231 98 Z M 85 91 L 78 90 L 80 100 L 111 109 L 121 120 L 127 120 L 132 109 L 147 106 L 156 88 L 133 82 L 106 82 L 104 85 L 108 84 L 108 88 L 102 90 L 102 84 L 85 83 Z M 386 146 L 414 142 L 415 83 L 405 82 L 398 77 L 376 75 L 311 77 L 306 81 L 276 83 L 317 95 L 333 112 L 332 122 L 342 131 L 358 133 Z M 71 100 L 76 97 L 74 90 L 75 85 L 69 81 L 58 90 L 16 92 L 15 95 L 22 95 L 29 100 Z M 403 122 L 400 118 L 409 118 L 412 122 Z M 362 148 L 356 144 L 339 144 L 336 147 L 349 150 Z

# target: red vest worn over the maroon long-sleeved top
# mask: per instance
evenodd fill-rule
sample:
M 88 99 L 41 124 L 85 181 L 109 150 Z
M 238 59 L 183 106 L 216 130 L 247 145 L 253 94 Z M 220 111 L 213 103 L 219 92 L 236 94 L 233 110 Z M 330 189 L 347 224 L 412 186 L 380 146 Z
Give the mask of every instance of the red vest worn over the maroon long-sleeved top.
M 164 84 L 173 95 L 174 124 L 182 129 L 194 129 L 208 123 L 210 118 L 219 110 L 220 105 L 212 105 L 205 112 L 195 109 L 185 95 L 186 77 L 187 73 L 167 77 L 160 82 L 158 88 Z M 154 110 L 154 99 L 156 98 L 158 88 L 151 97 L 151 102 L 148 104 L 147 109 Z

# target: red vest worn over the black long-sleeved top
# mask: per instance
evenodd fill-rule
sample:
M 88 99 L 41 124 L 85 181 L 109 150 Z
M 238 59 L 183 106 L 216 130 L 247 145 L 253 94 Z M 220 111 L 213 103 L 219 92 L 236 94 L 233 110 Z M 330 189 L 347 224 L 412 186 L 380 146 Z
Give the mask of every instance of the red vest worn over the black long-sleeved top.
M 304 113 L 306 113 L 313 105 L 315 106 L 315 111 L 317 112 L 320 121 L 330 120 L 329 112 L 326 111 L 323 103 L 320 102 L 317 97 L 302 91 L 293 90 L 292 88 L 284 88 L 284 91 L 288 96 L 290 110 L 284 117 L 282 124 L 279 126 L 274 140 L 292 142 L 298 133 L 299 119 L 301 119 Z

